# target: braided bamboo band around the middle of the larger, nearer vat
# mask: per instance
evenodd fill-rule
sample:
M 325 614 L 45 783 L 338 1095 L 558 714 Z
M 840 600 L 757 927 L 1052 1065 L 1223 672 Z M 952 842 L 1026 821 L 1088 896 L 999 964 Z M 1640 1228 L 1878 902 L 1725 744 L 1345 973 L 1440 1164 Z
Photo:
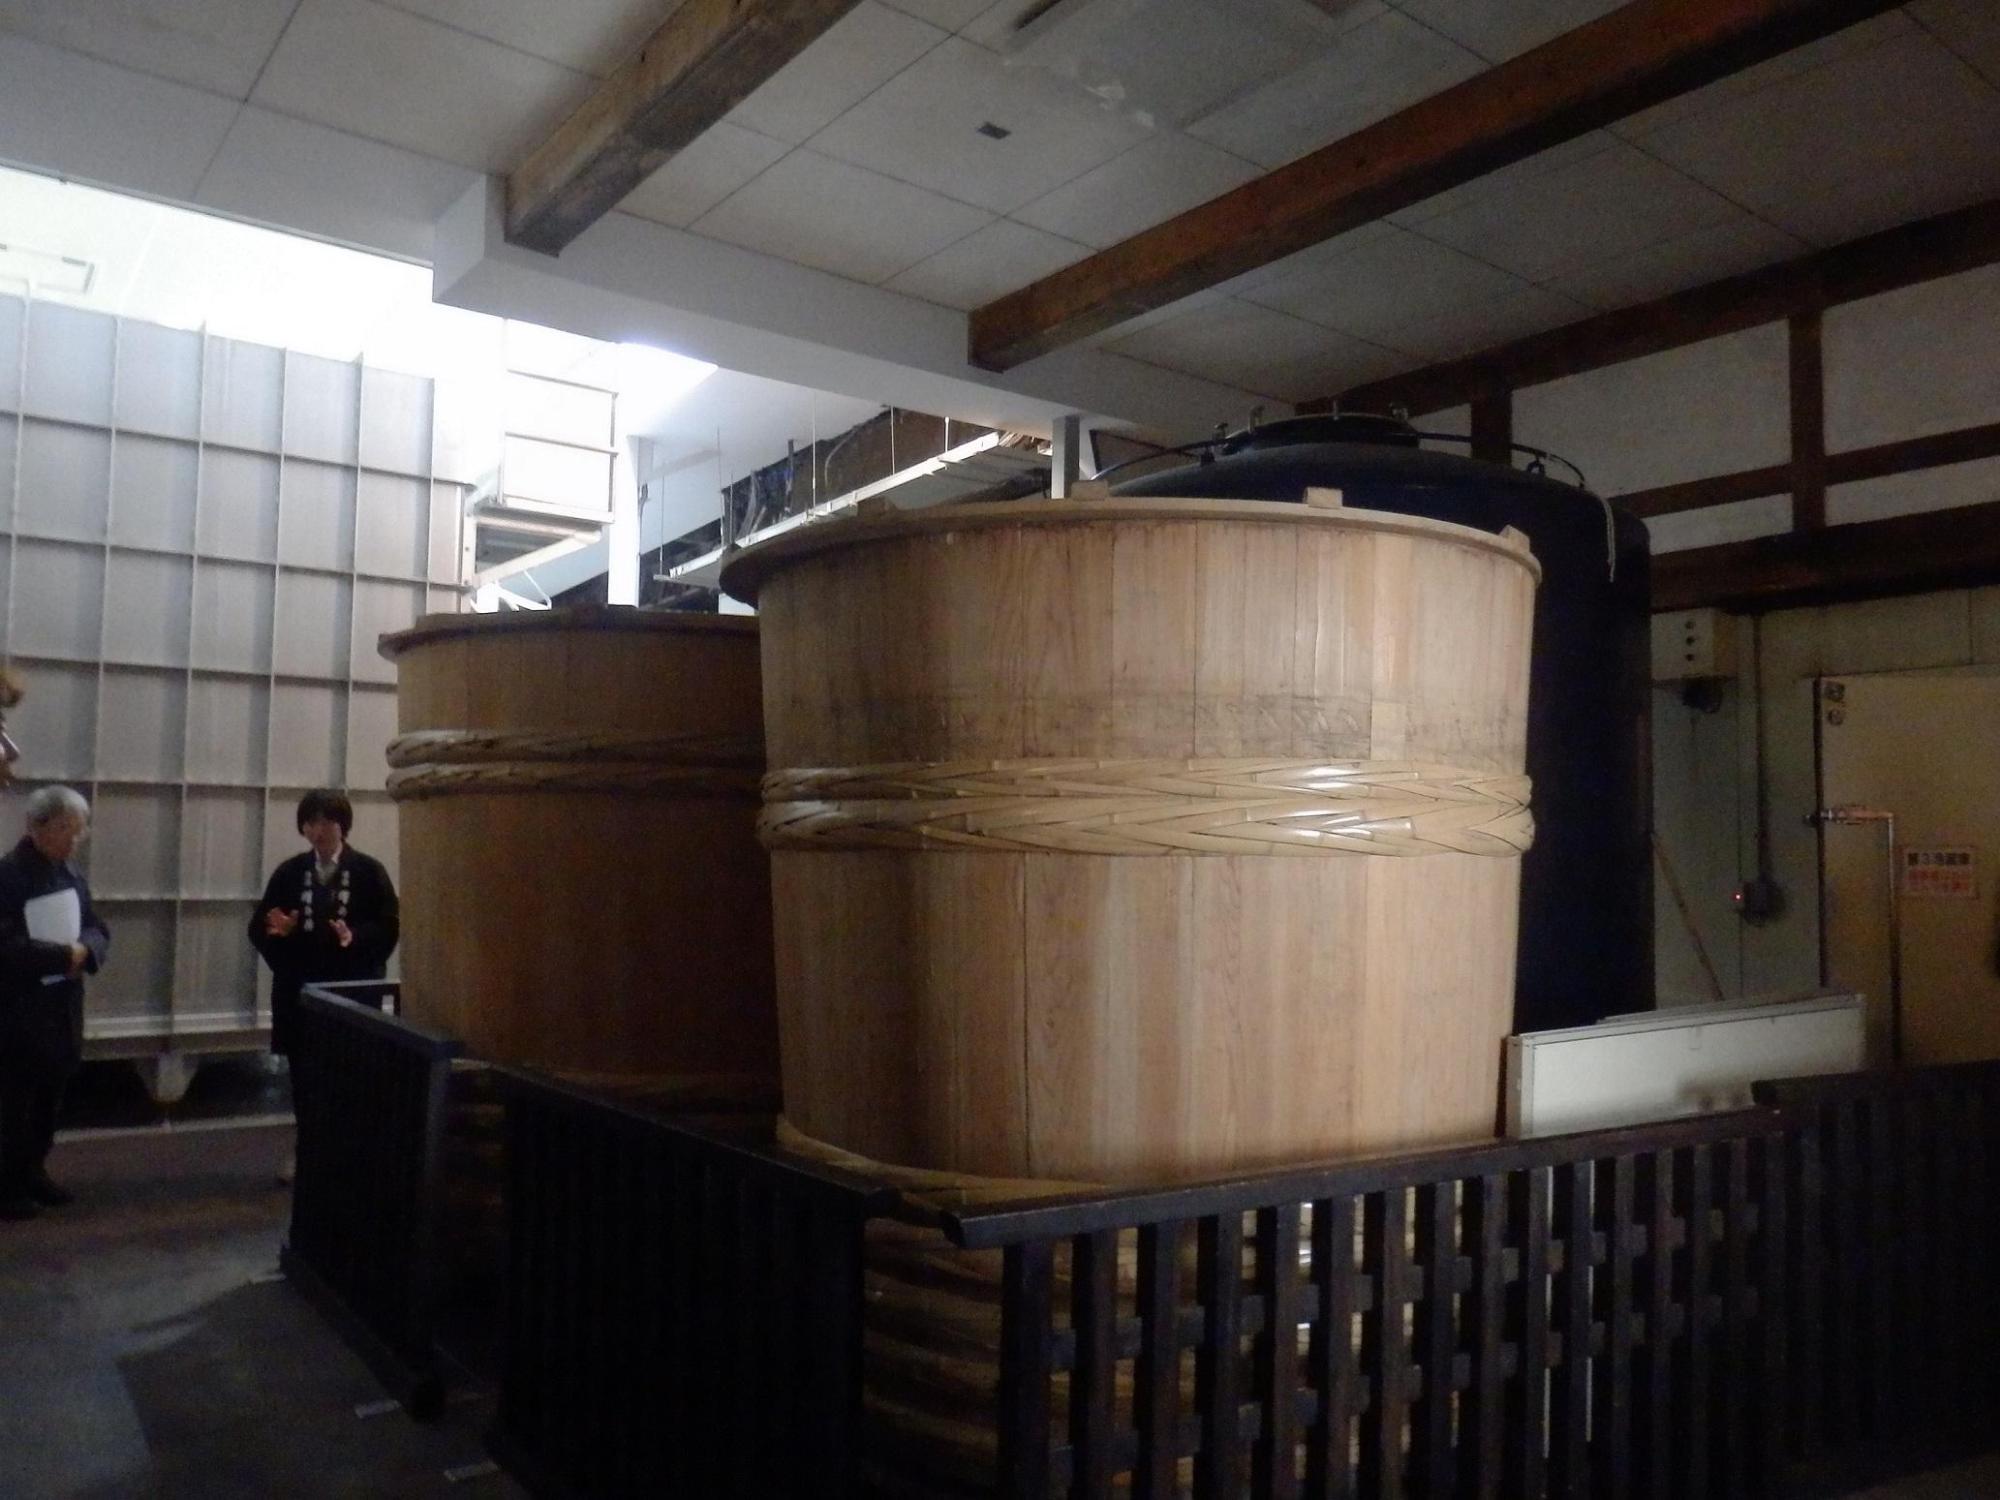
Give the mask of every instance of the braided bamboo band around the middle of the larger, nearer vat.
M 1528 778 L 1386 760 L 986 760 L 782 770 L 772 850 L 1490 854 L 1534 842 Z

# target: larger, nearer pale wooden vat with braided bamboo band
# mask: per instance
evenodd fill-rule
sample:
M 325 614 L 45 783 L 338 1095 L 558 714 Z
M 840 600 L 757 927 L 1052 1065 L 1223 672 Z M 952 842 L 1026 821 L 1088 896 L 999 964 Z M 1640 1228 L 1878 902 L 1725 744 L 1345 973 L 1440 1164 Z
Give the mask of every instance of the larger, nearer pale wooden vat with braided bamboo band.
M 1096 1182 L 1492 1134 L 1534 584 L 1336 494 L 748 550 L 786 1118 Z

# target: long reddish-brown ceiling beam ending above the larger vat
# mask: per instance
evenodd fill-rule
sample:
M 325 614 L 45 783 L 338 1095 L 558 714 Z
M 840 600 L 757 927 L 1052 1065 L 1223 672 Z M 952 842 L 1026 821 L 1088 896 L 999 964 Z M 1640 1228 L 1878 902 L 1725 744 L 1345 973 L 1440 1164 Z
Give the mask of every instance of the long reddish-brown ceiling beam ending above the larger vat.
M 968 358 L 1010 370 L 1894 8 L 1896 0 L 1632 0 L 988 302 L 972 314 Z

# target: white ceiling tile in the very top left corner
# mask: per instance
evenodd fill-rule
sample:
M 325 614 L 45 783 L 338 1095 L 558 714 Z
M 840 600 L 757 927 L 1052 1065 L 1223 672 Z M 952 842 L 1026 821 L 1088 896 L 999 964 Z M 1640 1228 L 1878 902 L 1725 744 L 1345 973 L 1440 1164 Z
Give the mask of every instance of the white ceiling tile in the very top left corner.
M 0 0 L 0 30 L 244 98 L 296 0 Z

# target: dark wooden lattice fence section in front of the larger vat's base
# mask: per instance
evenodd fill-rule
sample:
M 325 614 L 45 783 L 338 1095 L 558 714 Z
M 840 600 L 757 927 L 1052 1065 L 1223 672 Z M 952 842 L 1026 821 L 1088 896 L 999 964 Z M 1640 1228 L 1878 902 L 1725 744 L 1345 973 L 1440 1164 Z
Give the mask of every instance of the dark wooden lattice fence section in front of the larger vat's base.
M 1744 1112 L 950 1216 L 1006 1248 L 1000 1492 L 1774 1494 L 1784 1144 Z

